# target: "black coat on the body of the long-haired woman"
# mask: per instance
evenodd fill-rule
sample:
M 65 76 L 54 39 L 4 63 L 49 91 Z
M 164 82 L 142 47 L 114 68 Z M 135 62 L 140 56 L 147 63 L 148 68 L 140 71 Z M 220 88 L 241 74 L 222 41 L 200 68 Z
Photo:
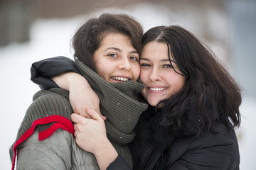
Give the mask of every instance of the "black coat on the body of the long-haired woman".
M 215 132 L 198 137 L 174 139 L 159 126 L 161 113 L 149 108 L 142 113 L 137 125 L 137 137 L 130 145 L 134 169 L 225 170 L 239 169 L 240 155 L 234 131 L 224 125 L 215 125 Z M 108 167 L 124 169 L 126 164 L 118 157 Z M 127 168 L 128 169 L 128 168 Z

